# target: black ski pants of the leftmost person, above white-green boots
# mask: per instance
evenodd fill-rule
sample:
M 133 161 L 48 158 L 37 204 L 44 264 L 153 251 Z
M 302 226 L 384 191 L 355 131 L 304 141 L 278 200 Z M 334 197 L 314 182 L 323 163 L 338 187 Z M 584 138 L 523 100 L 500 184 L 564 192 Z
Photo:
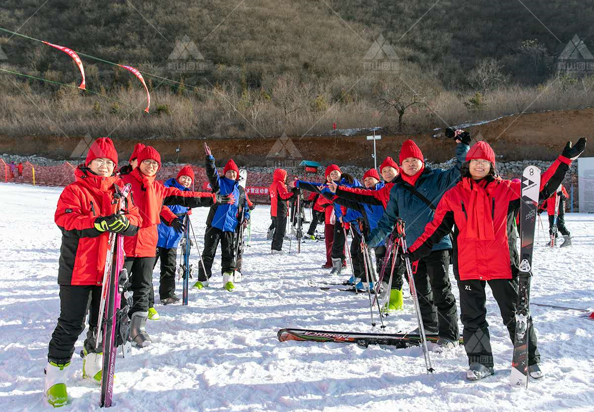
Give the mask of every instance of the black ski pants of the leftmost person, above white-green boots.
M 84 331 L 87 309 L 90 309 L 89 331 L 84 346 L 87 352 L 94 352 L 101 289 L 101 286 L 60 285 L 60 316 L 52 333 L 52 340 L 49 341 L 49 362 L 70 362 L 74 344 Z

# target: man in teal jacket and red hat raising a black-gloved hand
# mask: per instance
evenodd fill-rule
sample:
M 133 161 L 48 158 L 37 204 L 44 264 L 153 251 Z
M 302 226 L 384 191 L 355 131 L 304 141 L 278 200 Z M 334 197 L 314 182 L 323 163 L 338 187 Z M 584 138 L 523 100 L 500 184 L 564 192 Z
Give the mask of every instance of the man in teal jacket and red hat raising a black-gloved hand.
M 449 170 L 426 166 L 421 149 L 415 142 L 403 142 L 400 150 L 402 173 L 394 179 L 386 212 L 369 235 L 370 246 L 381 243 L 392 232 L 399 217 L 406 222 L 407 245 L 412 245 L 421 236 L 425 225 L 433 220 L 435 206 L 445 191 L 460 178 L 460 167 L 469 150 L 470 135 L 456 131 L 456 142 L 457 161 Z M 349 198 L 344 191 L 340 192 L 340 196 Z M 357 199 L 362 201 L 361 197 Z M 459 338 L 456 298 L 451 293 L 448 276 L 451 247 L 450 238 L 443 237 L 428 256 L 417 262 L 414 274 L 425 331 L 438 332 L 438 344 L 444 348 L 456 346 Z

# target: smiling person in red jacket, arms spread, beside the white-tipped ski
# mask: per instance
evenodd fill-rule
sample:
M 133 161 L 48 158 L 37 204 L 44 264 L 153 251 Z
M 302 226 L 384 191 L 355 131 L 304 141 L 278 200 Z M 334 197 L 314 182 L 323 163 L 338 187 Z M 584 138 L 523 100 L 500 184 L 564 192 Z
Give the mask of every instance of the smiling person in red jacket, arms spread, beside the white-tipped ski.
M 586 148 L 586 139 L 575 147 L 567 142 L 561 156 L 543 173 L 540 199 L 548 198 L 563 180 L 571 161 Z M 454 275 L 460 291 L 460 319 L 469 370 L 476 380 L 492 375 L 493 354 L 486 322 L 485 287 L 489 284 L 513 341 L 516 334 L 519 256 L 513 221 L 520 208 L 522 183 L 497 176 L 495 153 L 484 141 L 475 144 L 466 156 L 462 180 L 445 192 L 435 217 L 424 233 L 410 246 L 409 257 L 416 261 L 428 255 L 435 242 L 454 229 Z M 536 334 L 529 319 L 528 372 L 542 378 Z

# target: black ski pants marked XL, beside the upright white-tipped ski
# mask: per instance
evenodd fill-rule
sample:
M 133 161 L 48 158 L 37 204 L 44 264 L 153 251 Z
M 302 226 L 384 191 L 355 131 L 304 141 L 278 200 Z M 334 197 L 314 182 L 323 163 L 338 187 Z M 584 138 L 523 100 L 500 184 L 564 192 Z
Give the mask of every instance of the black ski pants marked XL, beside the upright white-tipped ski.
M 460 320 L 464 325 L 462 336 L 468 356 L 468 364 L 482 363 L 493 367 L 493 353 L 489 339 L 489 324 L 486 321 L 485 286 L 489 284 L 493 297 L 501 312 L 503 324 L 507 327 L 513 344 L 516 335 L 516 305 L 518 299 L 517 281 L 513 279 L 494 280 L 459 280 Z M 529 321 L 528 329 L 528 365 L 541 362 L 541 355 L 536 348 L 536 332 Z

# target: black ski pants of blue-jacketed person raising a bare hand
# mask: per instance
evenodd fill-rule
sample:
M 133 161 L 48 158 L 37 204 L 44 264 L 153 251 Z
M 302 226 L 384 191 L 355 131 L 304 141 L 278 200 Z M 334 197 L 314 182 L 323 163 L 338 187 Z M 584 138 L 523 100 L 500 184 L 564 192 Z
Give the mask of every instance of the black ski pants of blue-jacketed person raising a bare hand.
M 202 251 L 202 265 L 198 267 L 198 280 L 210 279 L 213 275 L 212 267 L 214 255 L 221 244 L 221 273 L 235 271 L 235 232 L 223 232 L 218 227 L 207 226 L 204 232 L 204 250 Z M 206 269 L 206 274 L 204 270 Z

